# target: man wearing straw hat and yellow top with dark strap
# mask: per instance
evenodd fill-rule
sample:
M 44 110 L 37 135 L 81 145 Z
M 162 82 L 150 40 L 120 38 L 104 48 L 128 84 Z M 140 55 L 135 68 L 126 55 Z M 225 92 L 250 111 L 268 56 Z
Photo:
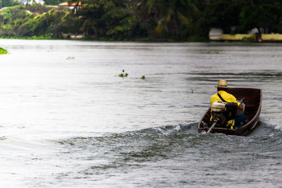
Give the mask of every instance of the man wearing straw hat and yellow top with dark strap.
M 226 102 L 226 104 L 235 103 L 237 104 L 238 110 L 240 111 L 244 110 L 243 104 L 240 104 L 240 101 L 238 101 L 235 98 L 235 96 L 233 96 L 232 94 L 228 94 L 227 92 L 228 86 L 226 80 L 219 80 L 216 87 L 217 87 L 217 93 L 211 97 L 211 106 L 212 104 L 214 104 L 215 101 L 223 101 Z M 235 120 L 228 120 L 226 126 L 230 127 L 231 129 L 234 129 L 235 128 L 234 125 L 236 126 L 240 125 L 240 123 L 244 122 L 245 119 L 246 119 L 245 115 L 241 114 L 240 117 L 236 117 Z

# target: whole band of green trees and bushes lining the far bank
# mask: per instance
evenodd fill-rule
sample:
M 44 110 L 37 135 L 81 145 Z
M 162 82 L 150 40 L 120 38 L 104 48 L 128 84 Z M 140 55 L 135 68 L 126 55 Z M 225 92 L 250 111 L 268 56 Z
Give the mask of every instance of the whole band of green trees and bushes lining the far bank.
M 21 1 L 0 1 L 0 39 L 209 42 L 219 28 L 215 41 L 282 42 L 278 0 Z

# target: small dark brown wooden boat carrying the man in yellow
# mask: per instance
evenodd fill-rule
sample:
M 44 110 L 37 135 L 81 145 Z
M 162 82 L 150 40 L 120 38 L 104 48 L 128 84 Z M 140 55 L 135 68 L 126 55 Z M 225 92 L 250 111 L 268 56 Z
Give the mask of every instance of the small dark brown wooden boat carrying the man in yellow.
M 224 127 L 214 127 L 212 132 L 229 134 L 229 135 L 246 135 L 250 133 L 252 129 L 258 123 L 260 111 L 262 109 L 262 89 L 252 88 L 229 88 L 228 93 L 233 94 L 236 99 L 244 99 L 245 103 L 245 115 L 247 117 L 247 123 L 237 130 L 231 130 Z M 207 132 L 209 127 L 212 126 L 210 122 L 211 108 L 209 108 L 198 124 L 199 132 Z

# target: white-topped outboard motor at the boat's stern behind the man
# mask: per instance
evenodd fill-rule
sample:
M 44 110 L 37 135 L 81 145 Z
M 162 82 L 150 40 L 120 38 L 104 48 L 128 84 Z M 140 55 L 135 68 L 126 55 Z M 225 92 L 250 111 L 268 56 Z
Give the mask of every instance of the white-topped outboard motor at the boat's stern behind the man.
M 215 101 L 212 104 L 212 123 L 216 122 L 216 125 L 220 127 L 226 127 L 228 120 L 233 120 L 237 114 L 236 103 L 227 103 L 222 101 Z

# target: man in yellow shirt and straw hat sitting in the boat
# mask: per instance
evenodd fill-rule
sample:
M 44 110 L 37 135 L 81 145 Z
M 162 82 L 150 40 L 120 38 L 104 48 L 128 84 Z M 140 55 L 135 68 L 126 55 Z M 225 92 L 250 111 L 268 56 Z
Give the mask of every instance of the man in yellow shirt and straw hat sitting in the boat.
M 227 92 L 228 85 L 227 85 L 226 80 L 219 80 L 216 87 L 217 87 L 217 93 L 211 97 L 211 106 L 216 101 L 222 101 L 226 103 L 226 106 L 230 107 L 229 108 L 230 112 L 228 112 L 230 113 L 230 115 L 229 117 L 225 117 L 226 120 L 223 120 L 224 123 L 220 123 L 220 124 L 226 124 L 226 127 L 235 129 L 235 127 L 238 127 L 246 119 L 245 115 L 242 112 L 240 115 L 236 115 L 237 114 L 236 111 L 237 110 L 243 111 L 244 106 L 243 104 L 240 103 L 240 101 L 238 101 L 235 98 L 235 96 L 233 96 L 232 94 L 228 94 Z M 212 120 L 212 117 L 211 117 L 211 120 Z

